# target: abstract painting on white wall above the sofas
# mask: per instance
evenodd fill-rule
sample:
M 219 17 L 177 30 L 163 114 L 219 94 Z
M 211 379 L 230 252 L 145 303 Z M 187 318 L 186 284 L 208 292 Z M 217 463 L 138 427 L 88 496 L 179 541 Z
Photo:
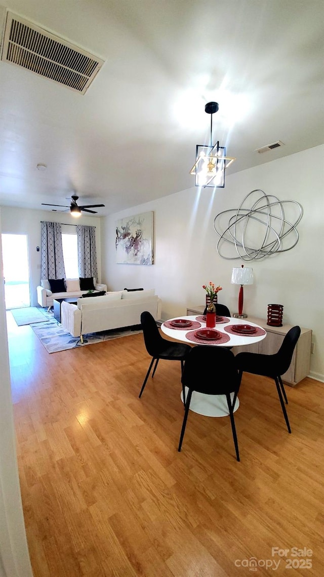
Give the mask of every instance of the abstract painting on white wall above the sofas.
M 116 263 L 153 264 L 153 211 L 116 221 Z

